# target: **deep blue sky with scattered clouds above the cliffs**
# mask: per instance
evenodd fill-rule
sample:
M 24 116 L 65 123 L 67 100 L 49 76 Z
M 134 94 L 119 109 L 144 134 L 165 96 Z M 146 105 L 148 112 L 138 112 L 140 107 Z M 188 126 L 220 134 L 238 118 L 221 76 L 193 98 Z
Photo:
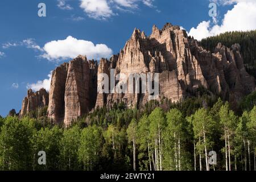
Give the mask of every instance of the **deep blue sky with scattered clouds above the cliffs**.
M 231 1 L 214 1 L 218 5 L 218 22 L 214 24 L 208 0 L 1 0 L 0 115 L 11 109 L 18 112 L 27 88 L 36 90 L 36 86 L 48 84 L 49 80 L 43 80 L 49 73 L 77 51 L 84 53 L 89 47 L 85 53 L 92 58 L 118 53 L 135 27 L 150 35 L 153 24 L 162 27 L 166 22 L 188 32 L 195 27 L 191 31 L 195 36 L 198 32 L 212 35 L 215 29 L 225 29 L 224 15 L 240 3 Z M 38 16 L 40 2 L 46 4 L 46 17 Z M 74 47 L 76 43 L 82 47 Z

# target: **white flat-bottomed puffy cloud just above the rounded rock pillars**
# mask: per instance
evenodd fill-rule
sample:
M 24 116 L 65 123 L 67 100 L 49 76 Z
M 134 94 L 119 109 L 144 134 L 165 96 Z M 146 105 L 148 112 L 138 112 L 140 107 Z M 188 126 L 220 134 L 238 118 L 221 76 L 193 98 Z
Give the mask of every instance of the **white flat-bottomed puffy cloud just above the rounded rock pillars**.
M 73 59 L 78 55 L 86 55 L 88 59 L 100 59 L 112 55 L 112 49 L 105 44 L 94 45 L 90 41 L 78 40 L 72 36 L 68 36 L 64 40 L 48 42 L 43 49 L 45 53 L 42 57 L 48 60 Z

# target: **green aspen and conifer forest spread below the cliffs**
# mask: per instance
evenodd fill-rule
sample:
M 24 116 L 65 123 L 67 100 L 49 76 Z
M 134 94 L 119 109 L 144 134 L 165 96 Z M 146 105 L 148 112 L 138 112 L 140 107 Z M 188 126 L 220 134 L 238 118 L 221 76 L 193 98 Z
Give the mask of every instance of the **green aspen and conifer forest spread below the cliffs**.
M 204 170 L 214 150 L 217 165 L 208 169 L 248 170 L 256 152 L 256 106 L 243 108 L 239 117 L 228 102 L 203 94 L 177 103 L 150 101 L 139 109 L 98 108 L 68 128 L 50 123 L 43 110 L 33 119 L 0 118 L 0 168 Z M 46 152 L 46 165 L 38 164 L 39 151 Z

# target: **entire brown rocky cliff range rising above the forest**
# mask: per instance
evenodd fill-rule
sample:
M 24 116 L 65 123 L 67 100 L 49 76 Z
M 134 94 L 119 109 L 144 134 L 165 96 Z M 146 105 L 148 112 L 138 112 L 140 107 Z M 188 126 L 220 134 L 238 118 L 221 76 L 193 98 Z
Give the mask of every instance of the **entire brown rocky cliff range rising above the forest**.
M 220 43 L 214 52 L 209 52 L 179 26 L 167 23 L 162 29 L 153 26 L 150 36 L 135 28 L 119 54 L 110 60 L 101 59 L 99 65 L 97 61 L 78 56 L 57 67 L 52 73 L 49 90 L 49 119 L 68 126 L 94 107 L 112 106 L 121 101 L 138 107 L 148 101 L 149 93 L 141 93 L 141 90 L 135 94 L 113 92 L 110 86 L 118 86 L 125 78 L 119 77 L 114 83 L 109 80 L 108 85 L 104 85 L 102 73 L 109 78 L 158 73 L 157 99 L 165 97 L 172 102 L 181 101 L 203 87 L 236 104 L 255 90 L 254 78 L 245 70 L 238 44 L 228 48 Z M 140 89 L 141 86 L 140 80 Z M 97 93 L 100 88 L 108 92 Z M 31 92 L 23 101 L 22 115 L 36 106 L 47 105 L 48 100 L 37 100 Z

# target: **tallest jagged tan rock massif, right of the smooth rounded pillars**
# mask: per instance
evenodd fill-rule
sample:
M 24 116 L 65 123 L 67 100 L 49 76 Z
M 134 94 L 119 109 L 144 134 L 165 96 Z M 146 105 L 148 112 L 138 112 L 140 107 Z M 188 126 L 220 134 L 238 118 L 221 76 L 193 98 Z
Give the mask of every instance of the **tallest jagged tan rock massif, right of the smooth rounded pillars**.
M 254 78 L 243 66 L 239 45 L 227 48 L 218 44 L 211 53 L 170 23 L 162 30 L 153 26 L 150 36 L 135 28 L 119 53 L 116 67 L 110 64 L 111 61 L 101 60 L 98 74 L 109 75 L 113 68 L 115 76 L 159 73 L 159 99 L 165 97 L 173 102 L 191 96 L 200 87 L 231 101 L 255 90 Z M 138 106 L 148 101 L 148 94 L 98 94 L 96 106 L 111 106 L 120 101 L 127 106 Z

